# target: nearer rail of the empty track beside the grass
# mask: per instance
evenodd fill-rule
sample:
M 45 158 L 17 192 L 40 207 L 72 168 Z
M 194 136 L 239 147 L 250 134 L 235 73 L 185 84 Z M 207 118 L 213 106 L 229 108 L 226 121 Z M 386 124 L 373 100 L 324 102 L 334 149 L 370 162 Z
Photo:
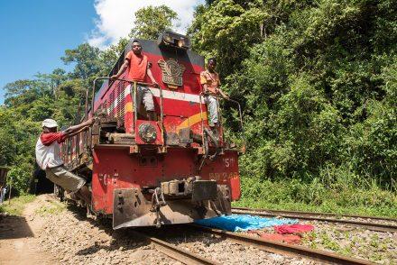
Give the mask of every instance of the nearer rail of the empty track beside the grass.
M 338 224 L 351 224 L 355 226 L 361 226 L 365 229 L 377 232 L 386 232 L 386 233 L 397 233 L 397 225 L 394 224 L 376 224 L 371 222 L 362 222 L 362 221 L 353 221 L 353 220 L 343 220 L 337 218 L 326 218 L 326 217 L 315 217 L 315 216 L 306 216 L 306 215 L 288 215 L 282 213 L 262 213 L 257 211 L 250 210 L 236 210 L 235 208 L 232 209 L 233 214 L 249 214 L 249 215 L 259 215 L 259 216 L 282 216 L 288 218 L 296 218 L 300 220 L 309 220 L 309 221 L 320 221 L 320 222 L 328 222 L 328 223 L 338 223 Z

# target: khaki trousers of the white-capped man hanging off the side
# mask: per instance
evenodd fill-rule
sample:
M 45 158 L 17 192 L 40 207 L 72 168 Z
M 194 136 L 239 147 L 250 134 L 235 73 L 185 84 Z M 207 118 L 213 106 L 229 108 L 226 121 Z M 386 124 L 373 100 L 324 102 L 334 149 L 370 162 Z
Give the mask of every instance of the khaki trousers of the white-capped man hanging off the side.
M 53 183 L 69 192 L 76 192 L 86 184 L 85 178 L 69 172 L 64 166 L 45 169 L 45 173 Z

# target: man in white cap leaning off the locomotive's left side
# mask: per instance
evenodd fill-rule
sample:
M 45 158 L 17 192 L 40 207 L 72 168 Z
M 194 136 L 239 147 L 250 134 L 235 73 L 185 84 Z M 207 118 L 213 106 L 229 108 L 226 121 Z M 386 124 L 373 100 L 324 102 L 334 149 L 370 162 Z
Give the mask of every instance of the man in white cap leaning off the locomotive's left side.
M 36 143 L 35 150 L 36 161 L 40 168 L 45 170 L 46 177 L 83 199 L 88 206 L 91 203 L 91 196 L 88 187 L 85 186 L 86 179 L 69 172 L 63 166 L 63 160 L 60 158 L 60 142 L 65 142 L 69 137 L 87 130 L 94 122 L 94 119 L 89 119 L 87 122 L 57 133 L 58 123 L 52 119 L 46 119 L 42 122 L 42 134 Z

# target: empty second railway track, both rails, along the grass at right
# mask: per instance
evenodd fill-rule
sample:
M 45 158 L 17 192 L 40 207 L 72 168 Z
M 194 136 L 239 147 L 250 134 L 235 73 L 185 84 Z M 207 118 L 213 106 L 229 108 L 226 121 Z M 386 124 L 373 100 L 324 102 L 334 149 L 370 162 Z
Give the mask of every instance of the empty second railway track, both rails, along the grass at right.
M 268 209 L 251 209 L 243 207 L 232 208 L 232 213 L 234 214 L 246 214 L 246 215 L 259 215 L 266 217 L 282 216 L 288 218 L 296 218 L 300 220 L 310 220 L 310 221 L 320 221 L 328 223 L 338 223 L 338 224 L 349 224 L 360 226 L 365 229 L 377 232 L 387 232 L 387 233 L 397 233 L 397 225 L 395 224 L 379 224 L 376 221 L 392 221 L 397 222 L 396 219 L 383 218 L 383 217 L 371 217 L 363 215 L 333 215 L 333 214 L 319 214 L 319 213 L 309 213 L 309 212 L 297 212 L 297 211 L 279 211 L 279 210 L 268 210 Z M 338 217 L 346 218 L 361 218 L 368 219 L 372 221 L 357 221 L 357 220 L 346 220 L 340 219 Z

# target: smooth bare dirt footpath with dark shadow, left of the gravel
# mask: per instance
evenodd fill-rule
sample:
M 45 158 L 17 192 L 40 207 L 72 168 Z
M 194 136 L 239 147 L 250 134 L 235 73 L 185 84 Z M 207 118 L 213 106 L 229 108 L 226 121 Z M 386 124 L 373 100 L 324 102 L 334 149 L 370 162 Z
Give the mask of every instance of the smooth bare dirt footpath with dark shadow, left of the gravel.
M 38 196 L 28 204 L 23 216 L 5 215 L 0 219 L 0 264 L 54 264 L 53 255 L 42 251 L 38 233 L 44 220 L 35 215 L 46 204 L 46 196 Z

